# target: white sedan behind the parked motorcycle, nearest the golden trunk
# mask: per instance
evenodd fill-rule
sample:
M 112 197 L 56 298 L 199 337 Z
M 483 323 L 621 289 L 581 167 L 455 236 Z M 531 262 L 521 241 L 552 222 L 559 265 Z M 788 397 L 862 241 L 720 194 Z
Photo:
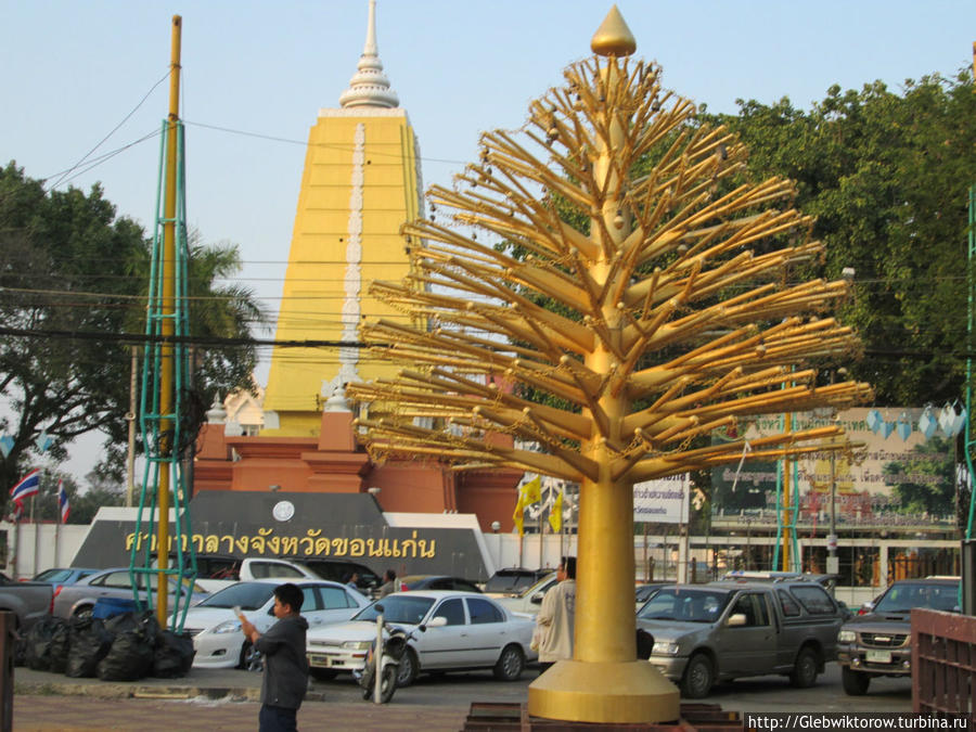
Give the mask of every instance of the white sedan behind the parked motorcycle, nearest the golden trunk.
M 381 611 L 382 607 L 382 611 Z M 498 679 L 514 681 L 537 657 L 529 648 L 535 620 L 506 611 L 474 592 L 396 592 L 360 611 L 348 622 L 310 630 L 308 663 L 319 678 L 362 669 L 376 637 L 376 616 L 413 638 L 400 662 L 398 684 L 406 686 L 424 671 L 490 668 Z M 432 620 L 438 618 L 435 626 Z M 441 620 L 442 618 L 442 620 Z

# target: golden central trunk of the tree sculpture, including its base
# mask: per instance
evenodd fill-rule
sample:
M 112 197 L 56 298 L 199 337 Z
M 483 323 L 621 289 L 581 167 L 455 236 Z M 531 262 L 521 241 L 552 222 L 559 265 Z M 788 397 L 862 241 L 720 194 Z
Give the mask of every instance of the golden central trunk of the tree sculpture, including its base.
M 616 60 L 603 69 L 607 89 L 619 84 L 621 72 Z M 609 97 L 611 92 L 607 92 Z M 591 236 L 600 255 L 590 268 L 594 282 L 606 283 L 620 277 L 613 253 L 619 251 L 632 231 L 632 220 L 614 151 L 625 144 L 619 120 L 609 126 L 609 140 L 600 141 L 593 165 L 598 184 L 607 195 L 600 218 L 593 218 Z M 602 219 L 602 221 L 600 220 Z M 601 241 L 602 232 L 613 239 Z M 625 319 L 616 303 L 602 306 L 606 330 L 622 338 Z M 600 343 L 600 342 L 598 342 Z M 608 374 L 617 365 L 606 346 L 598 345 L 586 356 L 593 373 Z M 598 402 L 609 437 L 622 440 L 620 425 L 630 410 L 626 390 L 614 396 L 604 393 Z M 596 479 L 586 478 L 579 489 L 579 535 L 577 539 L 576 613 L 573 660 L 558 662 L 529 686 L 528 711 L 532 716 L 575 721 L 660 721 L 678 718 L 678 690 L 651 664 L 637 659 L 637 622 L 633 594 L 633 484 L 615 480 L 611 473 L 613 455 L 603 438 L 587 440 L 580 450 L 600 465 Z

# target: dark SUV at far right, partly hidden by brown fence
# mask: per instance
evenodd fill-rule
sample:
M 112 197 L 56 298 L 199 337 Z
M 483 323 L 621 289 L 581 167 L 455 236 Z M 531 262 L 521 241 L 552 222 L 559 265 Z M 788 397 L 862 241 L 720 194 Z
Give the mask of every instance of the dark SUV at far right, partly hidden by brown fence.
M 885 590 L 869 613 L 845 622 L 837 634 L 844 691 L 861 696 L 874 677 L 910 676 L 912 609 L 959 613 L 959 586 L 958 577 L 902 579 Z

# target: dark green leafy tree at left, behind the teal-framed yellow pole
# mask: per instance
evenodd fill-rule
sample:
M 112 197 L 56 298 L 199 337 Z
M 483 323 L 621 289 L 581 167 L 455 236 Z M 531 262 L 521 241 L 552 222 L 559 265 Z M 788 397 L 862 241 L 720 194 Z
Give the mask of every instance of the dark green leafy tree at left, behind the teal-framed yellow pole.
M 14 163 L 0 168 L 0 433 L 13 440 L 0 460 L 4 499 L 41 452 L 42 434 L 56 461 L 78 436 L 103 433 L 97 473 L 120 479 L 150 258 L 143 230 L 116 216 L 100 187 L 48 192 Z M 249 291 L 217 284 L 240 264 L 233 246 L 192 247 L 191 333 L 204 344 L 194 388 L 204 404 L 218 390 L 252 387 L 249 326 L 264 311 Z M 215 346 L 215 337 L 236 343 Z

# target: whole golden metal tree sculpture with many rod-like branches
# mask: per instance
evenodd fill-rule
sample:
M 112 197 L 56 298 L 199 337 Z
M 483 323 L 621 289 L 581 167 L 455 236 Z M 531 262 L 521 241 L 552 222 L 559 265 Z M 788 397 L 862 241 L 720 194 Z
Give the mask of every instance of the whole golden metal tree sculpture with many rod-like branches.
M 627 59 L 615 13 L 598 55 L 532 102 L 519 133 L 484 133 L 453 189 L 429 189 L 434 214 L 402 230 L 412 274 L 371 287 L 410 324 L 362 328 L 403 370 L 349 394 L 369 402 L 358 425 L 374 460 L 580 484 L 574 660 L 532 683 L 529 711 L 659 721 L 677 717 L 678 695 L 635 662 L 633 483 L 737 461 L 742 440 L 703 439 L 736 421 L 846 408 L 871 388 L 816 385 L 810 364 L 858 342 L 823 316 L 847 282 L 791 281 L 823 248 L 793 184 L 735 184 L 744 146 L 697 124 L 656 65 Z M 838 448 L 842 434 L 787 429 L 753 440 L 752 455 Z

